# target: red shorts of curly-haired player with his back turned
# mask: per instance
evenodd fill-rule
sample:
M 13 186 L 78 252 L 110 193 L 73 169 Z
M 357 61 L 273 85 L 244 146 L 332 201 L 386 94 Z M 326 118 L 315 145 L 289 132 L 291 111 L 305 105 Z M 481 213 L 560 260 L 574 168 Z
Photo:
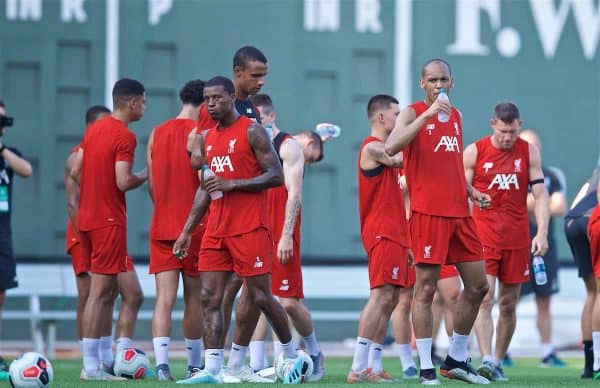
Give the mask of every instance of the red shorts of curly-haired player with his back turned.
M 190 249 L 186 257 L 179 259 L 173 254 L 174 240 L 150 240 L 150 266 L 148 273 L 181 270 L 189 276 L 196 276 L 198 272 L 198 251 L 202 235 L 193 236 Z

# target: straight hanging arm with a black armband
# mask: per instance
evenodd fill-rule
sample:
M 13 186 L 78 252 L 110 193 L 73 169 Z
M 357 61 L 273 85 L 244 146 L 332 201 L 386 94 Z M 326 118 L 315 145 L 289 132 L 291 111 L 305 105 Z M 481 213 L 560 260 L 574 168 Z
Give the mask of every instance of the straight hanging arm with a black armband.
M 529 144 L 529 184 L 531 185 L 531 195 L 535 201 L 533 211 L 537 225 L 537 234 L 531 240 L 531 252 L 534 255 L 544 255 L 548 251 L 550 201 L 544 184 L 542 157 L 538 148 L 533 144 Z

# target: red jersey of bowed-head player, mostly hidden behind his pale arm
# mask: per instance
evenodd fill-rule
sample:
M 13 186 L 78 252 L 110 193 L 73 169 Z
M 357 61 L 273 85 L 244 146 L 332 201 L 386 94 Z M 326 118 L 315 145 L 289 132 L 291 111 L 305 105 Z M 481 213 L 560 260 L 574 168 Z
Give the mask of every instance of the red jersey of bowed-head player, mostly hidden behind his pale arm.
M 288 139 L 293 139 L 292 136 L 285 132 L 279 132 L 275 139 L 273 139 L 273 145 L 275 151 L 279 156 L 279 150 L 281 145 Z M 279 157 L 281 160 L 281 157 Z M 282 161 L 283 164 L 283 161 Z M 269 202 L 269 215 L 270 217 L 270 228 L 273 233 L 273 240 L 278 242 L 281 238 L 281 232 L 283 231 L 283 224 L 285 223 L 285 206 L 287 204 L 287 188 L 285 185 L 273 187 L 267 190 L 267 198 Z M 294 225 L 294 241 L 300 242 L 300 223 L 302 218 L 302 211 L 298 211 L 296 217 L 296 225 Z

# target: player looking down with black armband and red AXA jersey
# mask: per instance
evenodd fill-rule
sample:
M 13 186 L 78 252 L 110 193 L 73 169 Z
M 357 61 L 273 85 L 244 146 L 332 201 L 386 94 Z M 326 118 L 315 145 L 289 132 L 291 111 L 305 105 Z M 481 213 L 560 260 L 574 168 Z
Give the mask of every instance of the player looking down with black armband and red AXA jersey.
M 490 120 L 492 135 L 469 145 L 463 154 L 467 181 L 491 197 L 486 209 L 474 207 L 473 218 L 483 243 L 489 291 L 475 321 L 482 355 L 477 372 L 493 381 L 507 381 L 502 370 L 517 323 L 516 308 L 521 283 L 529 281 L 529 254 L 548 250 L 548 192 L 544 186 L 542 159 L 534 144 L 519 138 L 521 118 L 517 106 L 495 106 Z M 531 187 L 537 233 L 530 237 L 527 193 Z M 499 282 L 496 346 L 492 355 L 494 322 L 492 307 Z

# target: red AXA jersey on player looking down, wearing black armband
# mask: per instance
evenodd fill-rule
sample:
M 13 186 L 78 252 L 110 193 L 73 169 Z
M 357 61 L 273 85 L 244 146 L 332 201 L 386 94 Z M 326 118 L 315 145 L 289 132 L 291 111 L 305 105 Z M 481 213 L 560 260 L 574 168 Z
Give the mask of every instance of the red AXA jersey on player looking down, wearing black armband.
M 481 243 L 499 249 L 528 247 L 529 143 L 518 138 L 510 150 L 501 150 L 494 147 L 488 136 L 475 145 L 473 187 L 491 197 L 486 209 L 473 206 Z

